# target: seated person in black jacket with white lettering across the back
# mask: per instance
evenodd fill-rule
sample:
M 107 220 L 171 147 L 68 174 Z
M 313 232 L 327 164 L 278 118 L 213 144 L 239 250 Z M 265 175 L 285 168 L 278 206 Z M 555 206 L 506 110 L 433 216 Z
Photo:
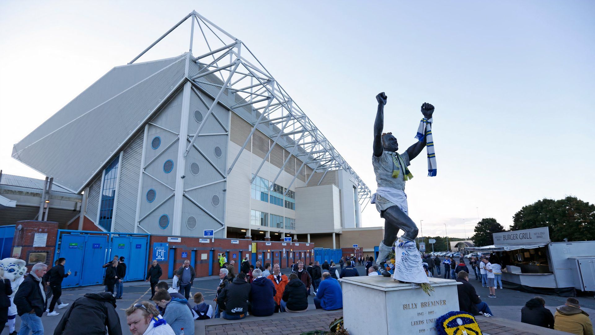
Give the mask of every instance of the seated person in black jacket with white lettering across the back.
M 245 274 L 240 273 L 217 297 L 217 303 L 220 306 L 225 305 L 225 311 L 221 315 L 224 319 L 240 320 L 246 317 L 246 312 L 250 309 L 252 291 L 247 278 Z

